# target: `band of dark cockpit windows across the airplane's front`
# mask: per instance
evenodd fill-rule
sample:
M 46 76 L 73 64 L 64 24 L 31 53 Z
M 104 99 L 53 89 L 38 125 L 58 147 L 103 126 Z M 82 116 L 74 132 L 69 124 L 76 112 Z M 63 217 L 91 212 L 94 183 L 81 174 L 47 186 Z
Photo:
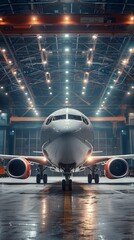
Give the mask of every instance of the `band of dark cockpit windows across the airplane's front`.
M 50 116 L 46 121 L 46 125 L 49 125 L 52 121 L 63 120 L 63 119 L 82 121 L 86 125 L 89 124 L 88 119 L 84 116 L 74 115 L 74 114 L 61 114 L 61 115 Z

